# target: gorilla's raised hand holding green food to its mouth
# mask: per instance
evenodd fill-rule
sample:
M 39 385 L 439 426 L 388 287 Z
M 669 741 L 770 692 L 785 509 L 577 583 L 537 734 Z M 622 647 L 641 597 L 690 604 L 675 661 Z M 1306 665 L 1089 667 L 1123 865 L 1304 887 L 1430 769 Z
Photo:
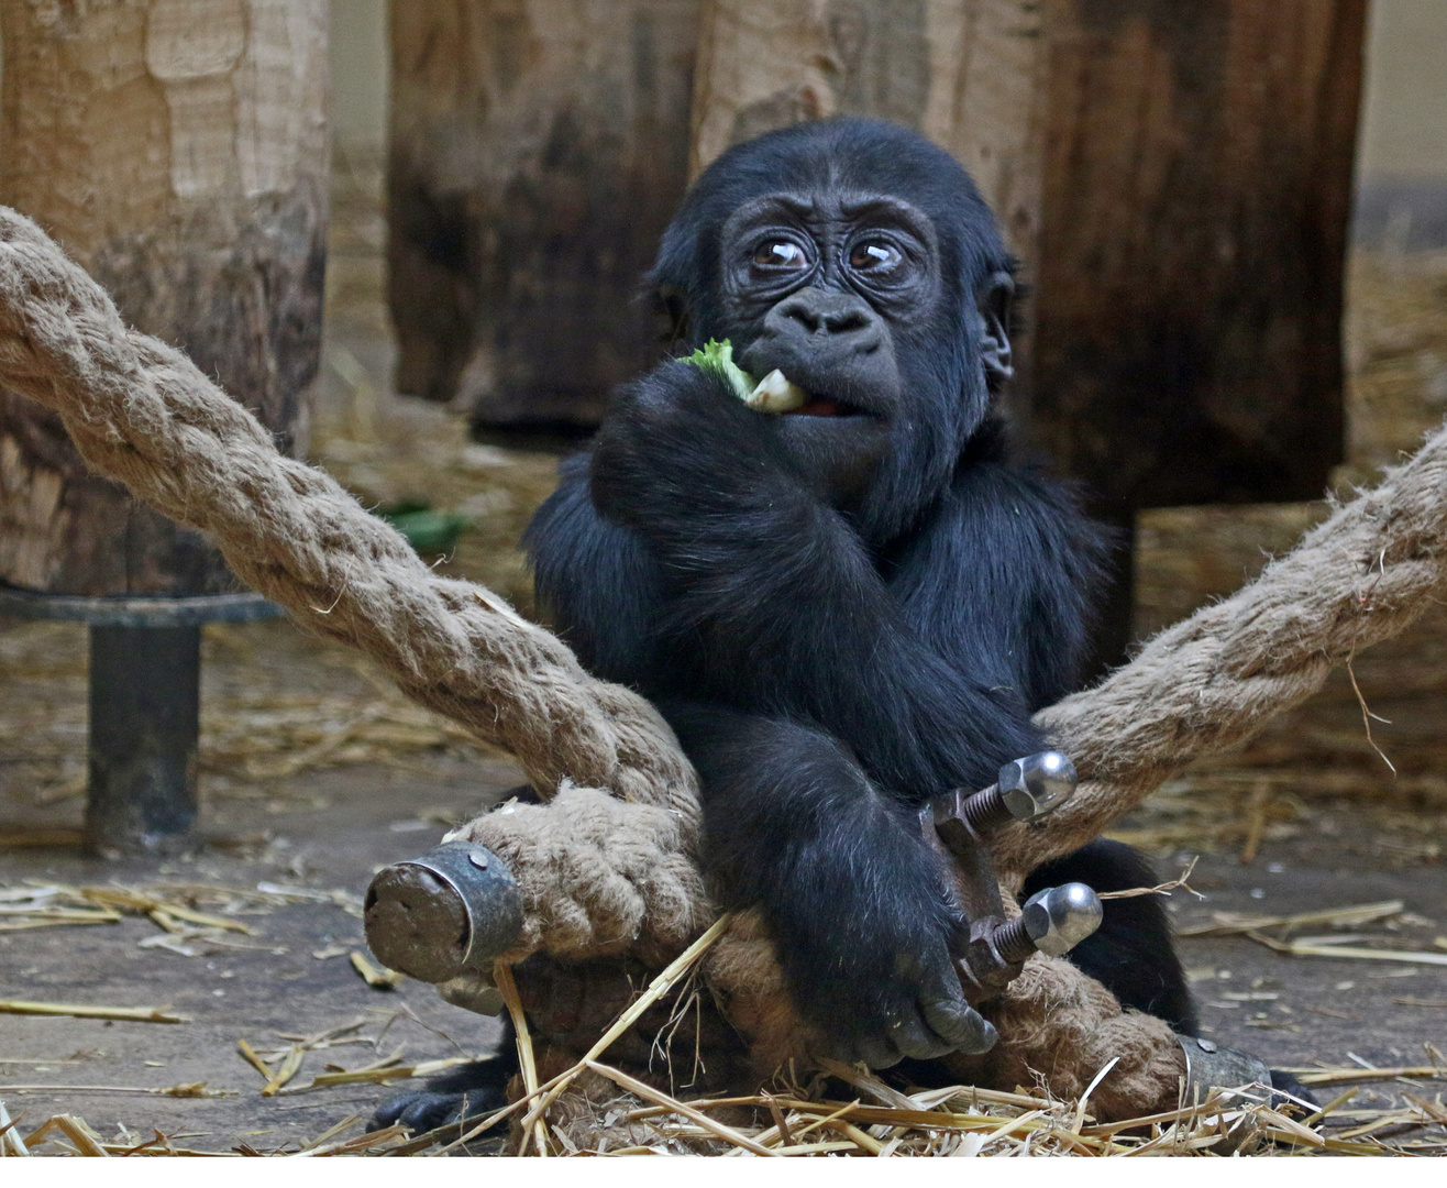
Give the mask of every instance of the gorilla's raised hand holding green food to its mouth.
M 664 363 L 614 396 L 593 444 L 593 502 L 667 547 L 700 517 L 806 498 L 774 421 L 716 372 Z

